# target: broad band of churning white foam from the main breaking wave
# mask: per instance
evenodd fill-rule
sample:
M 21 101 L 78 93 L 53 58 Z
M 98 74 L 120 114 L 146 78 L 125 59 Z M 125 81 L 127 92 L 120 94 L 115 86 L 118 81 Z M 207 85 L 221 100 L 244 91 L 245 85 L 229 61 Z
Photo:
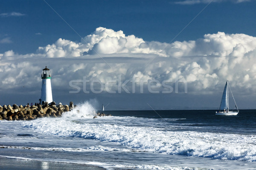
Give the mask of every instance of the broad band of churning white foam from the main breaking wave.
M 116 142 L 133 149 L 162 154 L 256 161 L 256 136 L 253 135 L 163 130 L 154 127 L 153 122 L 152 127 L 145 127 L 143 124 L 128 126 L 127 121 L 138 121 L 140 124 L 141 119 L 144 119 L 133 117 L 113 116 L 95 121 L 91 113 L 93 107 L 90 104 L 83 107 L 87 107 L 88 112 L 71 112 L 62 118 L 41 118 L 24 121 L 23 124 L 38 133 Z M 82 119 L 81 115 L 84 116 Z M 73 119 L 70 120 L 72 116 Z

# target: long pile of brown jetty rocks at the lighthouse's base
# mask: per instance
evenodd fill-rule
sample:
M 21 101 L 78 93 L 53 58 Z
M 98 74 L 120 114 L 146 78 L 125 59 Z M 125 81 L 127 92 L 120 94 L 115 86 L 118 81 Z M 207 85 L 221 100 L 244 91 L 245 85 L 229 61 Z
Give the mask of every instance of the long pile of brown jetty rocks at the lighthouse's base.
M 76 107 L 76 106 L 75 106 Z M 14 105 L 4 105 L 0 106 L 0 120 L 8 120 L 8 121 L 25 121 L 25 120 L 33 120 L 36 118 L 44 118 L 44 117 L 61 117 L 63 112 L 68 112 L 75 108 L 73 102 L 70 102 L 70 105 L 62 105 L 61 103 L 56 105 L 53 101 L 48 104 L 47 102 L 44 105 L 39 106 L 17 106 Z

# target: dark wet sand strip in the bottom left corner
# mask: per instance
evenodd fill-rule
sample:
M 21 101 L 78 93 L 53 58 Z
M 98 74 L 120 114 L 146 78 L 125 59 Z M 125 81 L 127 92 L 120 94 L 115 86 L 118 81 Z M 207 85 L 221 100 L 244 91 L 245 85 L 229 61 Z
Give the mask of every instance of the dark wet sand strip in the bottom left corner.
M 0 170 L 105 170 L 88 164 L 33 161 L 0 157 Z

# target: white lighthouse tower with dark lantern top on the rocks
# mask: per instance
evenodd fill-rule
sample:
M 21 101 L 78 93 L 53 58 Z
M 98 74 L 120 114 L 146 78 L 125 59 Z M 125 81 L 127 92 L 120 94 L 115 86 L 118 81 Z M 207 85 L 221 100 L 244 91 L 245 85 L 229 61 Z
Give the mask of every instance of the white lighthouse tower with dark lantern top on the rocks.
M 39 99 L 40 104 L 44 104 L 45 102 L 52 102 L 52 86 L 51 86 L 51 74 L 50 69 L 45 66 L 43 69 L 42 75 L 42 89 L 41 89 L 41 99 Z

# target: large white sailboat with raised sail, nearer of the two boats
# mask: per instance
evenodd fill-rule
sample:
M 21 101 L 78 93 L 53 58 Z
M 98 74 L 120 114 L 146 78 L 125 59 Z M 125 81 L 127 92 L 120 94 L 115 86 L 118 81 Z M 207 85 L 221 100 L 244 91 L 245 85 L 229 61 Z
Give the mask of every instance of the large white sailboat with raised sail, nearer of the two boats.
M 229 84 L 228 84 L 228 81 L 226 82 L 226 85 L 224 87 L 224 91 L 223 91 L 223 95 L 222 95 L 222 98 L 221 98 L 221 105 L 220 105 L 220 108 L 219 110 L 216 112 L 215 115 L 237 115 L 239 113 L 239 110 L 237 108 L 237 106 L 235 107 L 235 109 L 237 109 L 237 111 L 230 111 L 229 110 L 229 97 L 228 97 L 228 89 L 229 89 Z M 235 98 L 233 96 L 233 93 L 230 89 L 230 92 L 232 94 L 232 97 L 233 97 L 233 100 L 236 104 L 236 101 L 235 101 Z

